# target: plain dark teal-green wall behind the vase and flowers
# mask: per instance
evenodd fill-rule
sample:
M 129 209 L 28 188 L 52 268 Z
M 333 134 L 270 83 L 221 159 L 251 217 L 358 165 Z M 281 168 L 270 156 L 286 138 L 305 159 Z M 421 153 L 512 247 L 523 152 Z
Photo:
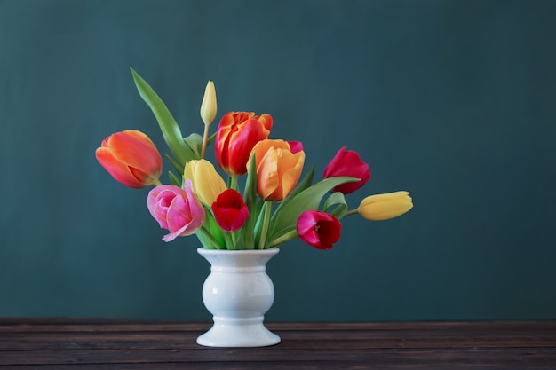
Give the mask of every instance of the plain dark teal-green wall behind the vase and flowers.
M 555 319 L 556 2 L 525 0 L 0 0 L 0 316 L 210 319 L 195 237 L 94 157 L 125 129 L 166 150 L 129 67 L 185 132 L 211 79 L 319 176 L 358 151 L 353 206 L 411 192 L 284 245 L 268 320 Z

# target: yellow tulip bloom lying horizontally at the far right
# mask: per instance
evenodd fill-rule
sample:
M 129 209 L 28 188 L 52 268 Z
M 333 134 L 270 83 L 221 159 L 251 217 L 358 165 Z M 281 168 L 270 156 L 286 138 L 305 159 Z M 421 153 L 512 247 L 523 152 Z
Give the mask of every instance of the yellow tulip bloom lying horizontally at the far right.
M 384 221 L 401 216 L 413 208 L 409 192 L 369 195 L 361 201 L 357 212 L 370 221 Z

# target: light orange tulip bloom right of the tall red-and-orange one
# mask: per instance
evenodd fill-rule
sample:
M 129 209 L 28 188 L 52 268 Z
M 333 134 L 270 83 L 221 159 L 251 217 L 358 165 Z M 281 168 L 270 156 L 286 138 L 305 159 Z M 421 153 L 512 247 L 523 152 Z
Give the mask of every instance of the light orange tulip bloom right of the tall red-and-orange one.
M 298 185 L 305 152 L 291 153 L 284 140 L 265 139 L 253 147 L 257 168 L 257 193 L 265 201 L 282 201 Z

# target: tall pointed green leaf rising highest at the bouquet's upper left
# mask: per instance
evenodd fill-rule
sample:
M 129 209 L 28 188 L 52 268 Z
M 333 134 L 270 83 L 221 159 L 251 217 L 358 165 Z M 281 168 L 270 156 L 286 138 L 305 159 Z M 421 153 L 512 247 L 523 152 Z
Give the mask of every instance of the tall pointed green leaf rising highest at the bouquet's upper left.
M 163 132 L 164 140 L 166 145 L 170 148 L 171 153 L 178 160 L 181 167 L 186 165 L 187 161 L 192 159 L 198 159 L 195 152 L 187 146 L 181 130 L 179 130 L 178 122 L 171 115 L 170 111 L 163 103 L 163 100 L 156 95 L 156 92 L 148 85 L 148 83 L 143 80 L 143 78 L 131 69 L 131 75 L 133 75 L 133 81 L 135 81 L 135 86 L 139 91 L 140 97 L 145 100 L 147 106 L 151 108 L 153 114 L 155 114 L 156 121 Z

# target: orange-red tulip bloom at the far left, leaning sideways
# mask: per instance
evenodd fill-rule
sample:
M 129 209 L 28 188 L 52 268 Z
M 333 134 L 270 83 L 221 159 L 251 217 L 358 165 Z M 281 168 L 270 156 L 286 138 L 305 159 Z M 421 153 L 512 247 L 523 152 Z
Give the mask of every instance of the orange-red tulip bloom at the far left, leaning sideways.
M 141 188 L 159 184 L 163 158 L 141 131 L 116 132 L 102 141 L 95 154 L 102 167 L 123 185 Z

